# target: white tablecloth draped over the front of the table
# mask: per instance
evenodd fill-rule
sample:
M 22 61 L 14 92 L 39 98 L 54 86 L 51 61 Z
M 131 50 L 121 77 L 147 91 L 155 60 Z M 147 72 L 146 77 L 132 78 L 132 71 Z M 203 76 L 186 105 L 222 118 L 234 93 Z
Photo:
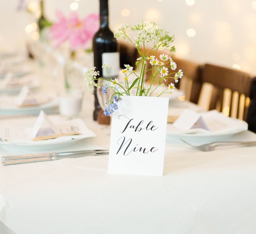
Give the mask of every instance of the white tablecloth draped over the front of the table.
M 86 122 L 97 137 L 58 151 L 108 148 L 108 129 Z M 200 152 L 167 137 L 163 177 L 107 174 L 107 161 L 1 165 L 0 233 L 256 233 L 256 147 Z

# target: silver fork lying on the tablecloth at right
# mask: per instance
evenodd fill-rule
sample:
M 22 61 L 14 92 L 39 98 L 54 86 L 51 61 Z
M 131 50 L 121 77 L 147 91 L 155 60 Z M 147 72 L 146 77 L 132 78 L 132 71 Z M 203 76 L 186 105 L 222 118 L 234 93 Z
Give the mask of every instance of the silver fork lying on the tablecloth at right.
M 182 140 L 182 139 L 180 139 Z M 256 141 L 215 141 L 208 144 L 203 144 L 201 146 L 193 146 L 190 143 L 182 140 L 186 144 L 192 146 L 193 148 L 199 149 L 201 151 L 213 151 L 216 146 L 220 145 L 242 145 L 242 146 L 256 146 Z

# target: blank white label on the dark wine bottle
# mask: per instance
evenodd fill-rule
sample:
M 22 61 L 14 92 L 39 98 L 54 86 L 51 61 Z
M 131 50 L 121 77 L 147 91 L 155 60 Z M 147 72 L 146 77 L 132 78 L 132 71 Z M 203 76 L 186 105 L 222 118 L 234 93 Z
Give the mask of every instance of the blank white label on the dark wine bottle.
M 120 65 L 119 65 L 119 53 L 118 52 L 110 52 L 110 53 L 103 53 L 102 54 L 102 64 L 107 64 L 112 67 L 106 69 L 102 69 L 102 75 L 104 77 L 110 76 L 117 76 L 120 70 Z M 107 71 L 109 74 L 107 74 Z

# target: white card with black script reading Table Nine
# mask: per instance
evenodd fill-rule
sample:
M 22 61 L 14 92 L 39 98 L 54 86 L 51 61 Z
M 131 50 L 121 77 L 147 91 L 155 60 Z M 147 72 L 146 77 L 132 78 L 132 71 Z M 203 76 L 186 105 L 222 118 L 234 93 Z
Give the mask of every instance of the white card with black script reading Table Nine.
M 122 96 L 112 115 L 109 174 L 163 175 L 168 102 Z

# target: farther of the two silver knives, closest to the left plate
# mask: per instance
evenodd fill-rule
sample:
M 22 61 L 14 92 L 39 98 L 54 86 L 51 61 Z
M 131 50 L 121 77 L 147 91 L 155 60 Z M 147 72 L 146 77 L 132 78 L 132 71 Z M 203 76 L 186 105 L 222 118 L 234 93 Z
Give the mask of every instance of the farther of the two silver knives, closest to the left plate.
M 61 153 L 42 153 L 42 154 L 25 154 L 25 155 L 14 155 L 14 156 L 4 156 L 2 157 L 3 161 L 7 160 L 17 160 L 17 159 L 34 159 L 34 158 L 43 158 L 51 156 L 68 156 L 68 155 L 80 155 L 87 153 L 104 153 L 109 152 L 105 149 L 94 149 L 94 150 L 83 150 L 83 151 L 71 151 L 71 152 L 61 152 Z

